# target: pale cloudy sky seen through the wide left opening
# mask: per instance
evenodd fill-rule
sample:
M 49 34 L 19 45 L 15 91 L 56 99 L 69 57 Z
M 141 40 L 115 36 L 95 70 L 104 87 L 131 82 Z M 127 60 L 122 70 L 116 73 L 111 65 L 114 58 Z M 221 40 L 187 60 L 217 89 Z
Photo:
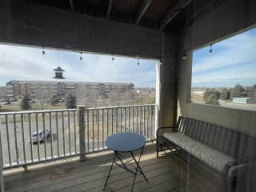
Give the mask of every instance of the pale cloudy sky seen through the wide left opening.
M 136 87 L 155 87 L 156 60 L 102 54 L 82 54 L 29 46 L 0 45 L 0 86 L 10 80 L 56 81 L 54 68 L 61 66 L 64 81 L 129 82 Z

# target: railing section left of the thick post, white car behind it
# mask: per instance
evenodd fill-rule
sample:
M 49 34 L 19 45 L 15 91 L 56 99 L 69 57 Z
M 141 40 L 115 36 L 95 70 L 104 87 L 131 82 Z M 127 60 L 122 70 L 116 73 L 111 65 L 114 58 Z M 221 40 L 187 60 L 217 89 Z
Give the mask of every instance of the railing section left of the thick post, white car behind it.
M 4 167 L 26 166 L 78 154 L 77 116 L 77 109 L 0 113 Z M 46 130 L 49 137 L 40 138 L 35 134 Z

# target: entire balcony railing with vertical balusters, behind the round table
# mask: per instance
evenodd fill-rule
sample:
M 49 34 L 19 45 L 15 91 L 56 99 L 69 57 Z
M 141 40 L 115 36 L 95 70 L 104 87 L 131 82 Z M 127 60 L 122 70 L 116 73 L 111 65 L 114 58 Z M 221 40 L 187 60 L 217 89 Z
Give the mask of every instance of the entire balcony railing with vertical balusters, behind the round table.
M 106 149 L 106 138 L 116 133 L 139 133 L 145 136 L 146 141 L 153 141 L 156 107 L 79 106 L 78 109 L 70 110 L 0 113 L 4 168 L 49 162 L 75 155 L 84 158 L 85 154 Z M 40 138 L 36 134 L 40 131 L 50 134 Z

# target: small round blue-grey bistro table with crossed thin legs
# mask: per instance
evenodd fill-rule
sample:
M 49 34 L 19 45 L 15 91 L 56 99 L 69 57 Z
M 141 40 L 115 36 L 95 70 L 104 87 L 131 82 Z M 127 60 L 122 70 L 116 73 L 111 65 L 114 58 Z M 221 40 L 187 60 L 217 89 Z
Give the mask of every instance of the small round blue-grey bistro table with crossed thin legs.
M 144 150 L 145 143 L 146 143 L 146 139 L 141 134 L 134 134 L 134 133 L 113 134 L 109 138 L 106 139 L 106 146 L 109 150 L 114 151 L 114 158 L 113 158 L 113 162 L 110 166 L 110 171 L 109 171 L 109 174 L 106 178 L 106 182 L 105 182 L 103 190 L 106 189 L 107 182 L 110 178 L 110 174 L 111 174 L 111 171 L 112 171 L 112 168 L 113 168 L 114 164 L 122 167 L 122 169 L 130 172 L 131 174 L 134 174 L 134 182 L 133 182 L 131 191 L 134 190 L 134 183 L 135 183 L 135 180 L 136 180 L 136 177 L 137 177 L 138 173 L 142 174 L 143 178 L 145 178 L 146 182 L 148 182 L 145 174 L 142 171 L 141 166 L 139 166 L 139 162 L 140 162 L 140 159 L 142 157 L 142 153 L 143 153 L 143 150 Z M 139 154 L 138 159 L 136 159 L 134 157 L 134 152 L 137 151 L 137 150 L 141 150 L 141 153 Z M 131 160 L 127 161 L 127 162 L 124 162 L 122 160 L 122 155 L 121 155 L 122 153 L 128 153 L 128 154 L 131 155 L 131 157 L 132 157 L 131 160 L 134 160 L 135 165 L 136 165 L 135 166 L 135 168 L 136 168 L 135 171 L 129 169 L 126 166 L 127 162 L 130 162 Z M 116 162 L 117 159 L 121 163 Z

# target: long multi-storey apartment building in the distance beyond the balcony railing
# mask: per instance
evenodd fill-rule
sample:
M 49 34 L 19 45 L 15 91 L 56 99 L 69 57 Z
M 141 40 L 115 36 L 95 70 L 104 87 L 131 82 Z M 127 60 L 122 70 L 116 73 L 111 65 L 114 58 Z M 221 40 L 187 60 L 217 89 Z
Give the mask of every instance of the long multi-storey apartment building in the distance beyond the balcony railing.
M 17 81 L 6 83 L 6 97 L 17 98 L 29 95 L 30 98 L 51 98 L 55 95 L 65 97 L 74 94 L 78 99 L 110 98 L 119 94 L 134 92 L 134 84 L 120 82 L 55 82 L 55 81 Z

